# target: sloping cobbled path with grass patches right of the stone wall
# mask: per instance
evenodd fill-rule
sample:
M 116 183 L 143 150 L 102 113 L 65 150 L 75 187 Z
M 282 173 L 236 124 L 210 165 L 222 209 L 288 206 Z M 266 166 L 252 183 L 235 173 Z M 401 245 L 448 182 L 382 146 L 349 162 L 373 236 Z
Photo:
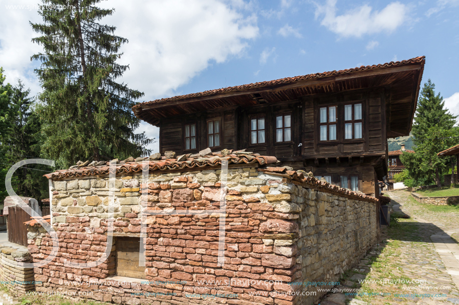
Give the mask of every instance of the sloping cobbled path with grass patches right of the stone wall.
M 459 304 L 459 209 L 432 211 L 407 191 L 387 195 L 394 215 L 410 218 L 384 227 L 381 242 L 319 304 Z

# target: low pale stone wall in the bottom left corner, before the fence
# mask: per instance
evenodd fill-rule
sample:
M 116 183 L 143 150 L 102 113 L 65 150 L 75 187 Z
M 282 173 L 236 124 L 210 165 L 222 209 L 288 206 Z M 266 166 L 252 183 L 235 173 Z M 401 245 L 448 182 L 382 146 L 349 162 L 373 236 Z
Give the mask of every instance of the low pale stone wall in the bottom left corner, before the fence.
M 21 266 L 31 261 L 29 252 L 0 245 L 0 279 L 13 295 L 35 290 L 34 269 Z

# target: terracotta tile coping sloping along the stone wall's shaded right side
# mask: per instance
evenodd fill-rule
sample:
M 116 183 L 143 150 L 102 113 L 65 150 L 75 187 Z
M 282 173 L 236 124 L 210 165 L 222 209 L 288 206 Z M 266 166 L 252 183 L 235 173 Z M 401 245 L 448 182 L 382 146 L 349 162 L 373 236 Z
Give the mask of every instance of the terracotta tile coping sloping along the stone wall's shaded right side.
M 293 181 L 297 181 L 306 185 L 311 186 L 314 189 L 319 191 L 325 191 L 328 193 L 332 193 L 335 195 L 343 195 L 345 197 L 356 199 L 356 200 L 364 200 L 370 202 L 377 202 L 378 199 L 365 195 L 360 192 L 354 192 L 349 189 L 343 189 L 337 185 L 330 184 L 326 181 L 320 181 L 312 175 L 308 175 L 303 171 L 289 171 L 285 167 L 267 167 L 267 168 L 259 168 L 261 172 L 265 172 L 270 175 L 280 176 L 283 178 L 287 178 Z M 304 175 L 306 174 L 306 175 Z

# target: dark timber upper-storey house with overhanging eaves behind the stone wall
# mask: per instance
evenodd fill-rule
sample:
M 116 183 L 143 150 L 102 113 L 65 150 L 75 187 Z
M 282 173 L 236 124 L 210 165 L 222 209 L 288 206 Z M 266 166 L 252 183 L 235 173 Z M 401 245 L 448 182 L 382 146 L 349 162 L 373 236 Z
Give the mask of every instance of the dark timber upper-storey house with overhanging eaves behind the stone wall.
M 160 128 L 161 153 L 246 148 L 378 196 L 386 139 L 411 130 L 424 62 L 422 56 L 208 90 L 133 110 Z

